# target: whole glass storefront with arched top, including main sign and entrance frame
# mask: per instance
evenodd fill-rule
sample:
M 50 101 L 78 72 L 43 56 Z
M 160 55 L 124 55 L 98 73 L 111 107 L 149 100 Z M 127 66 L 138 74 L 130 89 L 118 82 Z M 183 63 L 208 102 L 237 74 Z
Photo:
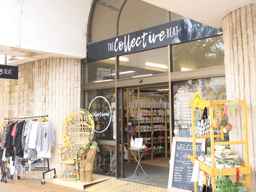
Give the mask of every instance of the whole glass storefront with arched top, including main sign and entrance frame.
M 192 136 L 188 102 L 196 92 L 205 100 L 226 99 L 221 33 L 143 1 L 93 1 L 82 71 L 82 106 L 95 111 L 95 139 L 102 151 L 96 157 L 94 171 L 116 178 L 125 177 L 124 162 L 130 161 L 124 152 L 129 149 L 127 121 L 131 120 L 131 108 L 150 108 L 136 106 L 140 93 L 145 98 L 154 94 L 158 102 L 161 98 L 169 103 L 164 107 L 169 110 L 168 122 L 165 115 L 168 133 L 164 136 L 166 140 L 170 136 L 170 143 L 172 136 L 177 136 L 175 127 L 187 131 L 184 137 Z M 132 94 L 136 99 L 130 98 Z M 111 116 L 100 116 L 102 113 Z M 137 136 L 140 132 L 144 130 Z M 149 136 L 144 133 L 143 137 Z M 161 156 L 169 157 L 171 147 L 167 143 L 164 146 Z M 154 159 L 153 152 L 150 155 Z

